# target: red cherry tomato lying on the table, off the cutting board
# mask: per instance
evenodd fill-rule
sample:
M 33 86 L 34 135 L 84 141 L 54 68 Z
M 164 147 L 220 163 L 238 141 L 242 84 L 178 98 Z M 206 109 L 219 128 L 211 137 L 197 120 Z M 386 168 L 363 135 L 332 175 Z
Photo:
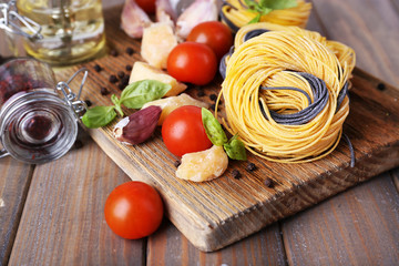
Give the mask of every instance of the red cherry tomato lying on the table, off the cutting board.
M 105 221 L 119 236 L 137 239 L 154 233 L 163 218 L 163 204 L 154 187 L 139 181 L 116 186 L 105 202 Z

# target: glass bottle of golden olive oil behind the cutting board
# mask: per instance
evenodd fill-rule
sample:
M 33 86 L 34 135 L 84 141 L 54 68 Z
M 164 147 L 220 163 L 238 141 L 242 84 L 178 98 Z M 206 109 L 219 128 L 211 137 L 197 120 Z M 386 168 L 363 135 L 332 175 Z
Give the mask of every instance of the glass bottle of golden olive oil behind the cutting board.
M 40 40 L 24 40 L 27 53 L 52 65 L 95 57 L 105 44 L 101 0 L 18 0 L 18 12 L 41 24 Z

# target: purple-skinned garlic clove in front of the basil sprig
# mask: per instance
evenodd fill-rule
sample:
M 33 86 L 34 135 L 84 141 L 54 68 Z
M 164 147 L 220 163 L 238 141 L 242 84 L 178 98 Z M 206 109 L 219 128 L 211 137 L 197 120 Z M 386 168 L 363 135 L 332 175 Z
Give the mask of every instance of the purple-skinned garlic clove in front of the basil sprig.
M 154 133 L 162 109 L 149 106 L 121 120 L 113 130 L 116 140 L 135 145 L 151 137 Z

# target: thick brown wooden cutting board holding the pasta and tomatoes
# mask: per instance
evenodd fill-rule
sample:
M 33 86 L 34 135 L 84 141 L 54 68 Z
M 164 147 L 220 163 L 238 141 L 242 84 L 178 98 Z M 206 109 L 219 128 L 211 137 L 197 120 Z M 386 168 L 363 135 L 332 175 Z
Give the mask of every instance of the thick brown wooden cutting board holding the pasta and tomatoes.
M 116 50 L 117 57 L 105 53 L 95 61 L 57 70 L 58 80 L 68 80 L 81 66 L 86 66 L 91 74 L 82 99 L 93 105 L 111 105 L 111 94 L 120 95 L 121 91 L 117 83 L 110 83 L 110 74 L 116 75 L 119 71 L 130 74 L 125 66 L 142 61 L 140 42 L 120 29 L 120 13 L 121 8 L 105 12 L 108 52 Z M 135 53 L 127 54 L 126 48 Z M 103 70 L 95 72 L 95 64 Z M 221 82 L 217 76 L 207 86 L 191 86 L 187 93 L 212 103 L 209 95 L 218 93 Z M 89 133 L 132 180 L 155 186 L 172 223 L 197 248 L 211 252 L 399 165 L 399 94 L 359 69 L 355 70 L 351 82 L 345 133 L 355 147 L 355 167 L 350 167 L 349 149 L 341 141 L 332 154 L 314 163 L 272 163 L 248 153 L 247 162 L 231 161 L 222 177 L 192 183 L 175 177 L 177 158 L 163 144 L 160 129 L 152 140 L 135 146 L 125 146 L 113 139 L 115 123 Z M 102 86 L 111 93 L 101 95 Z M 205 92 L 204 96 L 197 96 L 200 89 Z M 379 89 L 392 91 L 391 96 Z M 246 171 L 248 163 L 254 163 L 257 170 Z M 239 180 L 233 177 L 233 170 L 241 172 Z M 272 186 L 265 185 L 267 178 L 272 180 Z

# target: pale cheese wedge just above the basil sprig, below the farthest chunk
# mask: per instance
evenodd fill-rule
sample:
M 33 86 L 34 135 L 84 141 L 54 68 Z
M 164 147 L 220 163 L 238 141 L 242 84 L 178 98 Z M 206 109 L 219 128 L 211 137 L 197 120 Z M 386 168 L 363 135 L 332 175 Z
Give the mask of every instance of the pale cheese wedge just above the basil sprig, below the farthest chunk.
M 178 82 L 175 78 L 166 74 L 164 71 L 137 61 L 133 65 L 129 84 L 141 80 L 156 80 L 170 84 L 172 88 L 166 92 L 165 96 L 175 96 L 187 89 L 186 84 Z

